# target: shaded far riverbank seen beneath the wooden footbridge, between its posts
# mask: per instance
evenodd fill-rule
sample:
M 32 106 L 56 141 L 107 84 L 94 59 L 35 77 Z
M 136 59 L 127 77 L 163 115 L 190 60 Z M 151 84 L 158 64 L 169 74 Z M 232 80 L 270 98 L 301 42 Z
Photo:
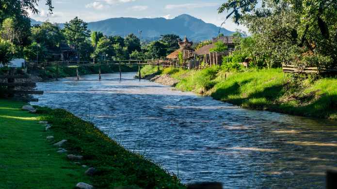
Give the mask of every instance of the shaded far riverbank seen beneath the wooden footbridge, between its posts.
M 69 67 L 59 67 L 58 69 L 58 77 L 75 77 L 76 76 L 76 67 L 77 66 L 69 66 Z M 82 75 L 90 75 L 90 74 L 98 74 L 99 66 L 98 65 L 81 65 L 78 67 L 80 76 Z M 138 71 L 137 65 L 121 65 L 122 72 L 135 72 Z M 101 73 L 108 74 L 119 72 L 118 65 L 101 65 Z M 41 77 L 42 79 L 56 79 L 56 66 L 46 67 L 45 69 L 39 69 L 32 71 L 32 74 Z

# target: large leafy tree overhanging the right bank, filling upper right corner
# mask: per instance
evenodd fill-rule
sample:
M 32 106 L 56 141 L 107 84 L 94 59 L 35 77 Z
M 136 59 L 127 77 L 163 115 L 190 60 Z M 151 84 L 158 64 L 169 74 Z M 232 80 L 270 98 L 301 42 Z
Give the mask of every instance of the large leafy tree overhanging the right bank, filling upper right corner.
M 250 32 L 261 39 L 257 43 L 263 41 L 257 45 L 269 43 L 272 47 L 264 48 L 269 51 L 266 51 L 267 56 L 272 55 L 274 59 L 281 57 L 282 60 L 291 50 L 293 61 L 305 58 L 304 54 L 312 54 L 310 56 L 334 60 L 330 65 L 324 66 L 337 66 L 336 0 L 261 2 L 262 7 L 257 8 L 257 0 L 229 0 L 222 4 L 219 13 L 227 10 L 227 18 L 233 16 L 236 23 L 246 25 Z M 264 37 L 266 34 L 267 38 Z M 283 54 L 277 54 L 276 51 Z

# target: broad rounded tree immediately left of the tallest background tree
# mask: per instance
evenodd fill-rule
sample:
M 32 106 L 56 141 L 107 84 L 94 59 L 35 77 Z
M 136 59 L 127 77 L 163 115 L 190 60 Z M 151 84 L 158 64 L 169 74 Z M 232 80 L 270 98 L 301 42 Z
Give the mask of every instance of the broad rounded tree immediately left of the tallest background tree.
M 32 27 L 32 41 L 42 44 L 45 47 L 60 47 L 64 40 L 64 35 L 57 25 L 50 22 L 44 22 L 41 26 Z

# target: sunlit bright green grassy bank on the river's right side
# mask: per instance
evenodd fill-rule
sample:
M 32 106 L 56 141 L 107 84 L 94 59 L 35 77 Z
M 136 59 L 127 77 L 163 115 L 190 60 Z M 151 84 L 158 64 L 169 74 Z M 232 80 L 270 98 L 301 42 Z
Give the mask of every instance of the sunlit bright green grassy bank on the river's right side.
M 337 119 L 337 79 L 291 79 L 281 69 L 224 71 L 220 67 L 182 70 L 146 66 L 143 76 L 169 74 L 176 88 L 212 96 L 217 100 L 255 110 Z

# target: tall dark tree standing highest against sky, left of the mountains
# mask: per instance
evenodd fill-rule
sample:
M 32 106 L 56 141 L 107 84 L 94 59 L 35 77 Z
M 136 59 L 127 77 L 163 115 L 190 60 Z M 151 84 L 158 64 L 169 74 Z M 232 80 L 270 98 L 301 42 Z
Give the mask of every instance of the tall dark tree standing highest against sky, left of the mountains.
M 64 24 L 63 32 L 68 45 L 75 45 L 76 49 L 79 49 L 90 36 L 88 24 L 77 16 Z

